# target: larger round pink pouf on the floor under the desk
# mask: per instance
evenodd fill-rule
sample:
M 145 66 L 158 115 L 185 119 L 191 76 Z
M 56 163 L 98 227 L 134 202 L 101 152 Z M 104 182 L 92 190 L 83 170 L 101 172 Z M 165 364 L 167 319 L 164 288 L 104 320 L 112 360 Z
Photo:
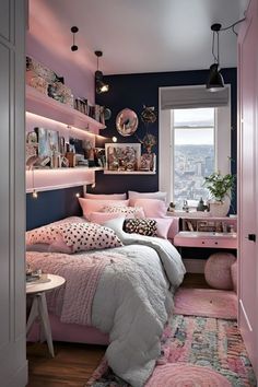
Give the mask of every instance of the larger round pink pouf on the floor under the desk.
M 214 289 L 233 290 L 231 267 L 236 261 L 236 257 L 230 253 L 212 254 L 204 267 L 207 283 Z

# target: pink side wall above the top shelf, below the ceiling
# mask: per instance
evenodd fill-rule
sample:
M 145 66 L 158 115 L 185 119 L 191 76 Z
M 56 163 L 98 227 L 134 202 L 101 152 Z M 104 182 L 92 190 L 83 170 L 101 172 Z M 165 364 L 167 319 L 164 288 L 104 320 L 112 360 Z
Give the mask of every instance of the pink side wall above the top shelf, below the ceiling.
M 59 77 L 63 77 L 66 85 L 72 90 L 75 97 L 85 97 L 91 104 L 95 103 L 94 72 L 87 69 L 86 61 L 83 70 L 74 63 L 72 56 L 75 52 L 71 51 L 71 60 L 60 59 L 58 48 L 55 52 L 50 51 L 31 33 L 27 33 L 26 54 L 54 70 Z

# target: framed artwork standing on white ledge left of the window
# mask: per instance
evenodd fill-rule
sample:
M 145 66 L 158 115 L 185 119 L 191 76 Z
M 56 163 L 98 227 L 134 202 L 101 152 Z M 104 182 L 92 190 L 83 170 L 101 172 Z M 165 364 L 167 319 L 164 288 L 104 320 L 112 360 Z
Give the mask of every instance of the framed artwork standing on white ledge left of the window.
M 105 153 L 108 171 L 139 171 L 140 143 L 106 143 Z

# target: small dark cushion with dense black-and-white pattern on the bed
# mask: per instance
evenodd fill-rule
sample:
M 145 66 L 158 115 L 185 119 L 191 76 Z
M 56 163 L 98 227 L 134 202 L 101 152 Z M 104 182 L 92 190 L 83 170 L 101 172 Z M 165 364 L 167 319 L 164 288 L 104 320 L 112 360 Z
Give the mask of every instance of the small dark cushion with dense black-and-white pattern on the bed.
M 129 234 L 156 236 L 156 221 L 153 219 L 125 219 L 122 230 Z

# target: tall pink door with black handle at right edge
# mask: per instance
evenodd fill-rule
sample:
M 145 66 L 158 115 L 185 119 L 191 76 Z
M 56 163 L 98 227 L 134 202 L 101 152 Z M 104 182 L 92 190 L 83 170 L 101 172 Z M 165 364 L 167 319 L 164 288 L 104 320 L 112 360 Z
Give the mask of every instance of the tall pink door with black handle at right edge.
M 257 361 L 256 101 L 258 1 L 253 0 L 238 35 L 239 327 L 253 366 Z M 257 241 L 258 242 L 258 241 Z

